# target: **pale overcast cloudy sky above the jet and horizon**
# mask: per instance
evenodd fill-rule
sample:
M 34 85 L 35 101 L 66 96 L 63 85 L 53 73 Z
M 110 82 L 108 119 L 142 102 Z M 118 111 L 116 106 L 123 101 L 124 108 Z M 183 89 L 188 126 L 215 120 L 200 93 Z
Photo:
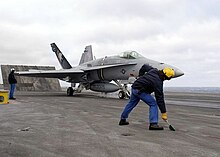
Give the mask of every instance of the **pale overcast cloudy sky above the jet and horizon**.
M 0 20 L 0 64 L 60 69 L 55 42 L 76 66 L 92 45 L 96 58 L 135 50 L 184 71 L 165 86 L 220 87 L 219 0 L 1 0 Z

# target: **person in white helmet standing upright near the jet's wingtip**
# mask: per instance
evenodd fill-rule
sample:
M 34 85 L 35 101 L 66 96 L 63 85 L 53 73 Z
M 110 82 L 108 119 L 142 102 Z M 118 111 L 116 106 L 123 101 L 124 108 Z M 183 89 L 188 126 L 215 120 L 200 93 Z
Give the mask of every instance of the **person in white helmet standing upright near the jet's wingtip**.
M 8 75 L 8 83 L 10 84 L 9 99 L 12 99 L 12 100 L 16 99 L 14 98 L 14 91 L 15 91 L 17 80 L 15 79 L 14 72 L 15 72 L 15 69 L 12 68 L 10 74 Z

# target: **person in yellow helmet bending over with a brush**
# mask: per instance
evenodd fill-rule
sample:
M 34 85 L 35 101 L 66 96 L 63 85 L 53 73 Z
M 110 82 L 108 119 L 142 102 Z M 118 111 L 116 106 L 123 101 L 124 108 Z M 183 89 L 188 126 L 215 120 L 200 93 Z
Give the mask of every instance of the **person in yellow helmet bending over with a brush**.
M 144 64 L 139 70 L 139 78 L 132 85 L 131 97 L 121 114 L 119 125 L 129 124 L 129 122 L 126 121 L 129 113 L 138 102 L 142 100 L 150 107 L 149 130 L 163 130 L 163 127 L 158 125 L 158 107 L 162 113 L 162 119 L 167 120 L 167 111 L 163 94 L 163 81 L 170 80 L 172 77 L 174 77 L 174 70 L 171 68 L 158 70 Z M 154 92 L 156 100 L 151 96 L 152 92 Z

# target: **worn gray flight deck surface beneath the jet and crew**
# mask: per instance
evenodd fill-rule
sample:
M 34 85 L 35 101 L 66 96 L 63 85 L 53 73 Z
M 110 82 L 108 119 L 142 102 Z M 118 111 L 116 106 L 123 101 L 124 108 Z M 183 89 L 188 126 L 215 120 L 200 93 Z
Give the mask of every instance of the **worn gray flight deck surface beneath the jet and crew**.
M 128 100 L 82 93 L 16 93 L 0 105 L 1 157 L 219 157 L 220 96 L 167 93 L 176 128 L 148 130 L 143 102 L 119 126 Z M 201 106 L 201 107 L 199 107 Z

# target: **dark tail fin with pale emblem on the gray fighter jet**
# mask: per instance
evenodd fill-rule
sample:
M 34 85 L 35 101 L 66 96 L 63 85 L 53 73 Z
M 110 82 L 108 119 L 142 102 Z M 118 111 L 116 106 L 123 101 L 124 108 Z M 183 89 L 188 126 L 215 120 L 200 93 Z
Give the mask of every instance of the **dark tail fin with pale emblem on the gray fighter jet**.
M 57 45 L 55 43 L 50 44 L 52 47 L 52 51 L 55 52 L 57 59 L 60 62 L 60 65 L 62 66 L 63 69 L 70 69 L 72 68 L 72 66 L 70 65 L 70 63 L 67 61 L 67 59 L 65 58 L 65 56 L 63 55 L 63 53 L 59 50 L 59 48 L 57 47 Z

